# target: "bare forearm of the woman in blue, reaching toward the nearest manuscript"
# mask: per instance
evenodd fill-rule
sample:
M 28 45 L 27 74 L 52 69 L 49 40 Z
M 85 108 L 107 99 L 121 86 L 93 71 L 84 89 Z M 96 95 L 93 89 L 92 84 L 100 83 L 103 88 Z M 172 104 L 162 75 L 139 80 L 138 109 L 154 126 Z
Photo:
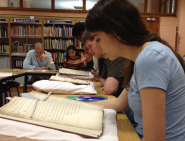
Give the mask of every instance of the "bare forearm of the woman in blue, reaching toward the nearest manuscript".
M 128 91 L 124 89 L 118 98 L 103 100 L 98 102 L 91 102 L 104 106 L 105 109 L 114 109 L 117 112 L 123 112 L 128 108 Z

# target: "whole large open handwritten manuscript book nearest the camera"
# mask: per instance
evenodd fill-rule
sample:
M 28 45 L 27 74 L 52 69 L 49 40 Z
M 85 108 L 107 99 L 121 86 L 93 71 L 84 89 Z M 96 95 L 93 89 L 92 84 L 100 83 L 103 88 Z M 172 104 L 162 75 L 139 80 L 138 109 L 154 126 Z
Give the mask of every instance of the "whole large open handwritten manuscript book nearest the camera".
M 0 117 L 93 138 L 101 135 L 102 106 L 58 96 L 50 95 L 48 97 L 46 94 L 36 91 L 30 93 L 38 99 L 14 97 L 0 109 Z

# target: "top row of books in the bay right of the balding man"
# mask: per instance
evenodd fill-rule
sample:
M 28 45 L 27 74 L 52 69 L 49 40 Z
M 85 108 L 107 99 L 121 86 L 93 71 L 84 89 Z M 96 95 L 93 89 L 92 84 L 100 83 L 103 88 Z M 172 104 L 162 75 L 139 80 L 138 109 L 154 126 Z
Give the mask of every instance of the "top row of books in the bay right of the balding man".
M 44 26 L 44 37 L 72 37 L 72 27 Z

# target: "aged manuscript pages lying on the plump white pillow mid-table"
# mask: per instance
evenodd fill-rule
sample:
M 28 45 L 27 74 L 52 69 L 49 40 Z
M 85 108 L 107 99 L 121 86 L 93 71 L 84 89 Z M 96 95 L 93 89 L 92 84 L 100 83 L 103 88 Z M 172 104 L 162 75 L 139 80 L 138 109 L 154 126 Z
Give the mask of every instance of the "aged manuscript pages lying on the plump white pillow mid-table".
M 71 83 L 82 84 L 82 85 L 89 85 L 90 84 L 90 81 L 88 81 L 88 80 L 73 79 L 73 78 L 66 78 L 66 77 L 59 77 L 59 76 L 51 76 L 50 80 L 71 82 Z

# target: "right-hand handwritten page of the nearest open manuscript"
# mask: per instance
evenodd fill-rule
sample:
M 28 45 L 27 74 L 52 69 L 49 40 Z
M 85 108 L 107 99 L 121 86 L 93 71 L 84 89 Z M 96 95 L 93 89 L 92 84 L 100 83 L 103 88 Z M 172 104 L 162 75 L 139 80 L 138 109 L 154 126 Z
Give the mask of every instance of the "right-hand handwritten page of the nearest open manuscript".
M 103 111 L 87 109 L 83 102 L 66 99 L 62 104 L 38 101 L 33 119 L 39 121 L 44 119 L 46 122 L 56 124 L 102 130 Z

